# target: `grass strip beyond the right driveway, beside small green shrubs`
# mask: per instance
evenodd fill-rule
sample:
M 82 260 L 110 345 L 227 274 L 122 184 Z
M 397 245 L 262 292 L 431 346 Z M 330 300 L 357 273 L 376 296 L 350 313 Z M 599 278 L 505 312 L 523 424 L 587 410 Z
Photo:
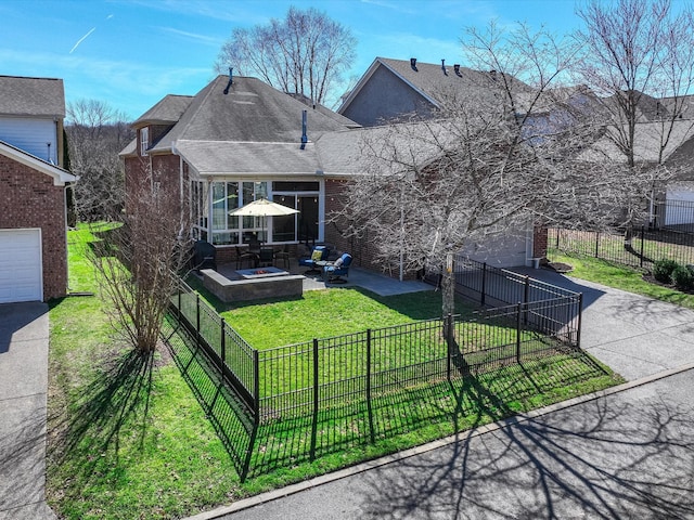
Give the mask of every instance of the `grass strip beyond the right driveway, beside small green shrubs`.
M 597 258 L 568 255 L 553 249 L 550 249 L 548 256 L 553 262 L 571 265 L 574 271 L 568 273 L 569 276 L 694 309 L 694 295 L 647 282 L 643 277 L 643 271 Z

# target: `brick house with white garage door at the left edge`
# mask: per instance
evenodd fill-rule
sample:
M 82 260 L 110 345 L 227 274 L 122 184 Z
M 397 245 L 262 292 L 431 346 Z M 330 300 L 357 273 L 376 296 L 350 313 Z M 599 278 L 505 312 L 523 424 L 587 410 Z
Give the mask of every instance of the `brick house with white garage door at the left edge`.
M 0 303 L 67 292 L 63 81 L 0 76 Z

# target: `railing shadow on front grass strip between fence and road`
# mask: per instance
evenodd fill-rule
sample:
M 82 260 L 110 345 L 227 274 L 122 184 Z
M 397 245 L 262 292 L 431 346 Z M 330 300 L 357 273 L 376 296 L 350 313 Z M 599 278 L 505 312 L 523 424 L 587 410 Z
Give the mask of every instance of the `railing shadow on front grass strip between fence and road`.
M 372 399 L 335 403 L 317 416 L 275 417 L 260 425 L 249 477 L 339 452 L 367 454 L 419 431 L 434 440 L 532 407 L 539 394 L 605 376 L 589 355 L 548 358 L 489 373 L 464 369 L 437 384 L 396 389 Z M 530 404 L 528 404 L 530 403 Z M 395 441 L 397 442 L 397 441 Z M 422 441 L 424 442 L 424 441 Z

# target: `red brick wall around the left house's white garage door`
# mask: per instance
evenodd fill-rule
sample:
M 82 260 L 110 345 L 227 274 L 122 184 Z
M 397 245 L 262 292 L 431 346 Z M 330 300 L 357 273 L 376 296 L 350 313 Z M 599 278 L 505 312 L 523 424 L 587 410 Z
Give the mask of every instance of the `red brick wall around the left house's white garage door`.
M 67 292 L 65 187 L 53 178 L 0 155 L 0 229 L 41 229 L 43 299 Z

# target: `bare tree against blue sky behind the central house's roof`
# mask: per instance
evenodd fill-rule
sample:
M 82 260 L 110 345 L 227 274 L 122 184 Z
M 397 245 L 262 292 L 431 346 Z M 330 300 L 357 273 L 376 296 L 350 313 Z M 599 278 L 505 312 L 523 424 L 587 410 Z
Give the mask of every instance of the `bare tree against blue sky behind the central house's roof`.
M 299 93 L 324 104 L 355 60 L 357 40 L 351 31 L 324 12 L 290 8 L 284 20 L 249 29 L 234 28 L 222 46 L 217 72 L 233 67 L 257 75 L 286 93 Z

